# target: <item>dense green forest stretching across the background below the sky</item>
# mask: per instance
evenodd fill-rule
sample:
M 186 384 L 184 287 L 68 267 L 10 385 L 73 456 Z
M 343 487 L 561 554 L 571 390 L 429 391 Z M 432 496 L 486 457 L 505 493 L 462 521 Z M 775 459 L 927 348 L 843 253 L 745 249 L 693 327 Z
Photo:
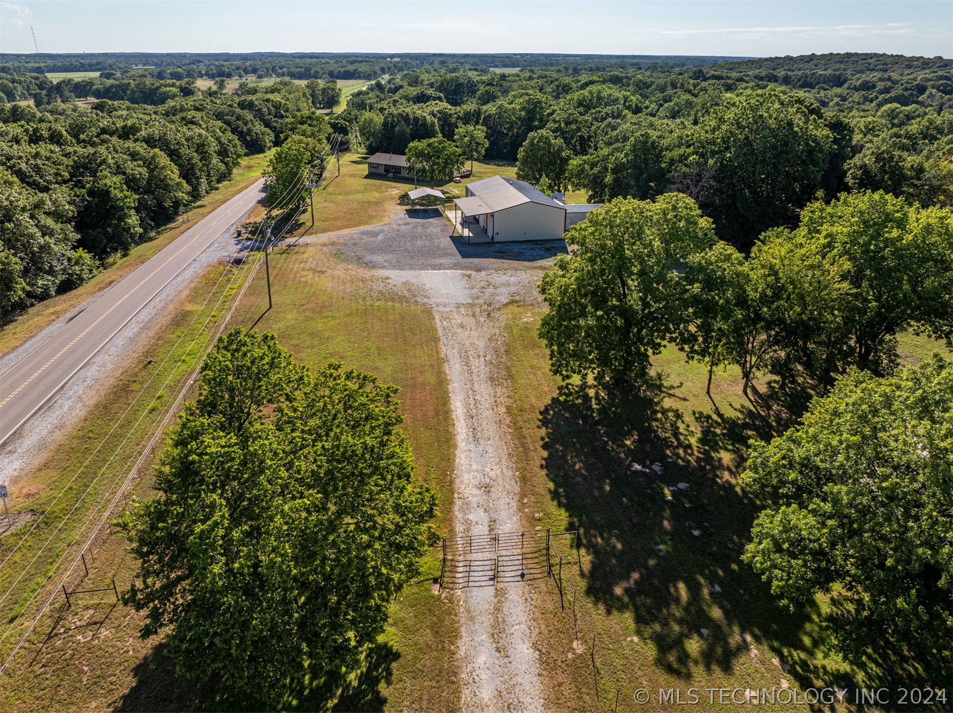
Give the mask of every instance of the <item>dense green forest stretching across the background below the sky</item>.
M 403 152 L 416 140 L 453 141 L 476 130 L 485 136 L 477 158 L 517 161 L 519 175 L 543 187 L 581 189 L 595 202 L 684 193 L 742 251 L 764 230 L 795 227 L 819 197 L 869 189 L 923 206 L 953 200 L 953 61 L 939 57 L 713 64 L 150 54 L 0 62 L 0 99 L 9 103 L 0 107 L 4 315 L 88 279 L 231 175 L 242 154 L 294 133 L 320 138 L 331 129 L 368 151 Z M 101 70 L 53 81 L 37 69 Z M 279 73 L 287 76 L 271 85 L 224 82 Z M 198 76 L 222 81 L 200 90 Z M 375 81 L 325 118 L 317 111 L 335 106 L 335 83 L 325 81 L 335 76 Z M 474 157 L 472 146 L 464 152 Z

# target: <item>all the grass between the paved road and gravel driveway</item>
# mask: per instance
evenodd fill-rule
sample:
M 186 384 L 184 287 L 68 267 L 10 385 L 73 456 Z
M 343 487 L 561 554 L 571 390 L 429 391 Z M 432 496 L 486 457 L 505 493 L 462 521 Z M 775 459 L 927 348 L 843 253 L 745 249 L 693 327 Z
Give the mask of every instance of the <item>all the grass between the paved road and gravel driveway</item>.
M 438 490 L 441 514 L 437 526 L 446 534 L 452 512 L 449 475 L 454 463 L 453 428 L 430 313 L 385 284 L 376 284 L 366 272 L 341 266 L 315 248 L 276 251 L 272 257 L 274 287 L 280 288 L 274 289 L 274 308 L 256 328 L 274 330 L 281 343 L 307 364 L 316 366 L 339 360 L 346 366 L 367 369 L 402 388 L 401 411 L 406 418 L 405 432 L 414 448 L 417 474 Z M 199 298 L 204 299 L 217 276 L 215 270 L 210 271 L 172 321 L 155 327 L 140 352 L 130 357 L 118 384 L 91 409 L 68 441 L 51 449 L 47 461 L 22 485 L 26 496 L 16 503 L 15 511 L 42 512 L 79 469 L 92 445 L 105 436 L 118 414 L 142 388 L 148 374 L 141 366 L 143 354 L 151 354 L 158 362 L 158 355 L 184 352 L 183 344 L 173 345 L 186 331 L 199 309 Z M 235 324 L 252 324 L 266 306 L 262 271 L 236 313 Z M 191 353 L 197 353 L 197 347 Z M 95 496 L 111 492 L 111 479 L 128 468 L 130 457 L 142 445 L 147 426 L 154 426 L 161 413 L 149 406 L 158 392 L 156 383 L 139 397 L 137 410 L 133 409 L 116 434 L 107 438 L 108 447 L 103 449 L 102 457 L 93 459 L 81 471 L 81 477 L 69 489 L 71 499 L 64 499 L 51 511 L 48 524 L 30 536 L 30 541 L 0 574 L 0 585 L 6 588 L 13 575 L 39 552 L 29 576 L 16 590 L 18 596 L 0 611 L 2 621 L 9 620 L 14 605 L 19 607 L 30 595 L 31 583 L 42 581 L 51 562 L 68 548 Z M 171 388 L 164 390 L 158 403 L 171 396 Z M 147 414 L 146 421 L 133 430 L 128 444 L 119 448 L 119 455 L 103 471 L 98 481 L 101 485 L 95 485 L 88 498 L 89 505 L 83 505 L 71 516 L 52 545 L 40 549 L 76 500 L 76 494 L 90 485 L 106 465 L 106 454 L 119 445 L 118 434 L 128 430 L 132 419 L 142 411 Z M 140 495 L 150 497 L 148 478 L 138 484 L 138 490 Z M 21 528 L 0 541 L 0 557 L 6 556 L 5 552 L 25 531 Z M 439 574 L 439 565 L 436 555 L 429 557 L 420 578 L 398 596 L 386 635 L 369 653 L 366 670 L 352 681 L 337 703 L 338 709 L 376 710 L 385 704 L 389 710 L 456 709 L 456 609 L 452 600 L 434 593 L 433 581 Z M 133 564 L 121 543 L 109 538 L 95 552 L 90 576 L 84 584 L 90 588 L 104 583 L 110 586 L 114 579 L 123 587 L 129 584 L 132 573 Z M 18 685 L 0 696 L 0 707 L 10 711 L 69 710 L 77 700 L 91 710 L 213 707 L 209 693 L 200 685 L 175 675 L 161 641 L 137 639 L 142 621 L 139 615 L 109 602 L 112 594 L 107 594 L 82 595 L 70 609 L 57 606 L 44 617 L 15 660 Z M 14 629 L 10 636 L 18 630 Z M 9 650 L 9 646 L 0 647 L 0 653 L 4 650 Z M 308 709 L 309 703 L 314 702 L 302 702 L 302 706 Z

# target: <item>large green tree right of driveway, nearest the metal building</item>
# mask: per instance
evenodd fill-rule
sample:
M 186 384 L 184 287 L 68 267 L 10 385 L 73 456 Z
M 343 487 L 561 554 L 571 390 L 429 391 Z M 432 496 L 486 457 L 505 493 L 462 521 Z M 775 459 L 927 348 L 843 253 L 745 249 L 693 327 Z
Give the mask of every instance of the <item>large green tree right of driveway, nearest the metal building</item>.
M 559 376 L 638 380 L 684 319 L 680 264 L 715 239 L 692 199 L 618 198 L 570 230 L 539 291 L 549 305 L 539 336 Z

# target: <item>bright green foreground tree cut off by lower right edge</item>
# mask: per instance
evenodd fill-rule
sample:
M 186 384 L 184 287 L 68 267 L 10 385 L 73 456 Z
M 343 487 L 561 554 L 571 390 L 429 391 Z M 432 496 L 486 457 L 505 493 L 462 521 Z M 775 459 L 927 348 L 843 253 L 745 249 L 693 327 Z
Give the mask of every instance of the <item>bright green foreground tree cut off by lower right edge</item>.
M 844 644 L 905 645 L 953 675 L 953 365 L 858 370 L 803 425 L 752 446 L 742 483 L 770 505 L 744 559 L 788 603 L 835 595 Z

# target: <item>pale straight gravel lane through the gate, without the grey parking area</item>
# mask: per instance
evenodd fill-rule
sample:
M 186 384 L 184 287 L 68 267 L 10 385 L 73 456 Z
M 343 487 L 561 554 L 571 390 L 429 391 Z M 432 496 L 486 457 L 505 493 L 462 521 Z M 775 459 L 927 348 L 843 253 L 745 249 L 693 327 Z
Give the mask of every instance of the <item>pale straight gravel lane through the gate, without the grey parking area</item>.
M 514 532 L 519 481 L 507 427 L 507 386 L 499 312 L 525 284 L 514 272 L 383 271 L 421 287 L 433 309 L 450 386 L 456 432 L 454 518 L 461 535 Z M 541 711 L 528 586 L 460 590 L 464 711 Z

